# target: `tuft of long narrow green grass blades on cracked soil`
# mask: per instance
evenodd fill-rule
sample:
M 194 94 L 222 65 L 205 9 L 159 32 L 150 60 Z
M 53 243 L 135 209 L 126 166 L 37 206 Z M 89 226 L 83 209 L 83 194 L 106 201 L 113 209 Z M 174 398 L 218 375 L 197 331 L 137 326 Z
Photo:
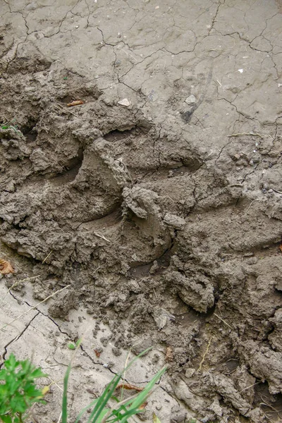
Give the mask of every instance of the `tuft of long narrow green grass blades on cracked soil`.
M 76 349 L 78 347 L 79 344 L 77 345 Z M 135 360 L 137 360 L 138 357 L 141 357 L 150 349 L 151 348 L 148 348 L 147 350 L 143 351 L 140 355 L 135 357 L 135 359 L 130 362 L 130 364 L 125 367 L 125 369 L 123 369 L 123 372 L 116 374 L 116 376 L 114 376 L 109 385 L 106 386 L 102 395 L 99 398 L 93 400 L 92 403 L 90 403 L 80 411 L 78 417 L 75 420 L 75 423 L 78 423 L 80 421 L 82 415 L 84 415 L 87 410 L 90 413 L 87 419 L 87 423 L 127 423 L 129 417 L 132 417 L 133 415 L 141 412 L 142 405 L 145 403 L 147 397 L 152 392 L 154 384 L 156 384 L 162 374 L 166 372 L 166 367 L 159 370 L 159 372 L 153 377 L 151 381 L 149 381 L 149 383 L 141 392 L 130 396 L 125 400 L 118 401 L 118 403 L 113 407 L 109 407 L 109 400 L 111 400 L 112 398 L 117 400 L 117 398 L 115 398 L 113 395 L 116 387 L 118 386 L 118 382 L 123 377 L 124 372 L 133 364 L 133 362 L 135 362 Z M 68 422 L 68 379 L 71 374 L 72 361 L 68 365 L 68 369 L 63 380 L 62 423 Z

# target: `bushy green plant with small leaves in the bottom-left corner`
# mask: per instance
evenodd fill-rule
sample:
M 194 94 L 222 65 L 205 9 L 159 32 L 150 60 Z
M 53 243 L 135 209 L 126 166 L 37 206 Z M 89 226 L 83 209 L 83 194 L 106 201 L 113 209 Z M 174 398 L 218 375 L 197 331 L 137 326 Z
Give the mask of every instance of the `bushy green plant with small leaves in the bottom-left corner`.
M 0 370 L 0 419 L 4 423 L 23 423 L 33 403 L 44 403 L 35 379 L 47 376 L 30 360 L 18 361 L 11 354 Z

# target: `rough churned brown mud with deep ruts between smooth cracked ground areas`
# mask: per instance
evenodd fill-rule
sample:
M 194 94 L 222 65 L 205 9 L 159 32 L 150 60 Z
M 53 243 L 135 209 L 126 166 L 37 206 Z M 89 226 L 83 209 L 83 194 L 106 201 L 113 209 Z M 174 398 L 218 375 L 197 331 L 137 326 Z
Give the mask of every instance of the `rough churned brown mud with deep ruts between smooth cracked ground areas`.
M 17 121 L 0 129 L 1 242 L 40 271 L 44 296 L 71 285 L 51 317 L 85 307 L 109 324 L 116 356 L 145 333 L 135 354 L 169 346 L 173 395 L 201 422 L 264 422 L 257 385 L 270 404 L 282 386 L 277 146 L 256 161 L 257 138 L 242 132 L 207 160 L 138 106 L 64 78 L 53 63 L 15 59 L 1 81 L 0 116 Z

